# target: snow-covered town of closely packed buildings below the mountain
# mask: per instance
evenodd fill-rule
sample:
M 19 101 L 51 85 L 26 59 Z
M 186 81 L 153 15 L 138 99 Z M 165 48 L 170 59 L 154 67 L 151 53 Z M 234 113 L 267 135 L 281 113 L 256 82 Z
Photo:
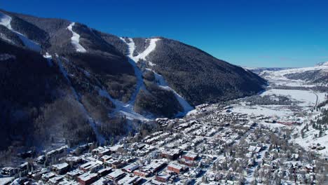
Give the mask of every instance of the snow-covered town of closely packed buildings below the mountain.
M 3 167 L 3 184 L 322 184 L 327 158 L 292 144 L 271 116 L 203 104 L 184 118 L 158 118 L 116 144 L 62 146 Z M 260 124 L 263 123 L 263 124 Z M 281 124 L 282 128 L 268 124 Z M 296 123 L 295 123 L 296 124 Z M 321 148 L 322 149 L 322 148 Z

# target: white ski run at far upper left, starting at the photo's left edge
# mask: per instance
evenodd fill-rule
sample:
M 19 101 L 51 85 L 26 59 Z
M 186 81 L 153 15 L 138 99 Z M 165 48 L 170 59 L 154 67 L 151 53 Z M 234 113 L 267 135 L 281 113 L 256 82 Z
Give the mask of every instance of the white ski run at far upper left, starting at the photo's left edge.
M 14 32 L 15 34 L 17 34 L 17 36 L 20 38 L 22 43 L 24 43 L 24 46 L 26 46 L 30 50 L 34 50 L 34 51 L 40 53 L 41 46 L 38 43 L 28 39 L 27 36 L 25 36 L 24 34 L 21 34 L 20 32 L 15 31 L 11 27 L 11 20 L 12 20 L 12 18 L 10 16 L 0 12 L 0 25 L 7 27 L 8 29 L 11 30 L 11 32 Z

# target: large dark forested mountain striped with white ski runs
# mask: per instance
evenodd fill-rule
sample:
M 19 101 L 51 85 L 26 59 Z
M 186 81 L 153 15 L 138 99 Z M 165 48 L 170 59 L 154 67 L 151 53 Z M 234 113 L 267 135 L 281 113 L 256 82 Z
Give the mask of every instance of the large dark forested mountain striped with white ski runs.
M 0 11 L 0 149 L 105 142 L 266 81 L 179 41 Z

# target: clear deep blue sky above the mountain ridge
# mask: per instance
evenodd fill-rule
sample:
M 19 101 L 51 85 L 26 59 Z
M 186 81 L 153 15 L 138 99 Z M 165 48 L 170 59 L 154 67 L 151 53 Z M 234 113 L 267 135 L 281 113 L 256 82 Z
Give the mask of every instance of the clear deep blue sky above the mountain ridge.
M 118 36 L 165 36 L 240 66 L 328 61 L 328 1 L 5 0 L 0 8 Z

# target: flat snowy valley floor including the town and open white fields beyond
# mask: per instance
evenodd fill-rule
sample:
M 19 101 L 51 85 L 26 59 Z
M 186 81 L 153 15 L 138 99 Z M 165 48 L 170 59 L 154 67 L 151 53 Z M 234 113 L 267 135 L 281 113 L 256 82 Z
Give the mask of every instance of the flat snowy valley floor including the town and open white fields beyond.
M 274 73 L 258 95 L 148 120 L 115 143 L 45 151 L 3 174 L 44 184 L 323 184 L 327 123 L 317 120 L 327 93 Z

